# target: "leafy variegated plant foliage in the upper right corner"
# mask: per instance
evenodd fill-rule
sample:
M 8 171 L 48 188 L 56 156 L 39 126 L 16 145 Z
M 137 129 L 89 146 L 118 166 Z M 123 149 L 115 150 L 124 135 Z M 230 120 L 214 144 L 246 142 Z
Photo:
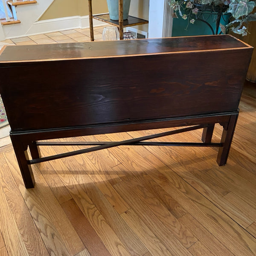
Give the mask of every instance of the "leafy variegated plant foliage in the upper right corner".
M 246 23 L 256 20 L 256 12 L 253 10 L 256 0 L 168 0 L 168 4 L 174 11 L 173 17 L 180 16 L 188 20 L 187 27 L 197 19 L 207 23 L 201 19 L 201 13 L 217 15 L 216 27 L 220 25 L 224 34 L 231 30 L 236 34 L 247 35 Z M 229 22 L 227 25 L 220 24 L 221 15 L 227 13 L 230 13 Z M 215 34 L 217 33 L 218 29 L 215 31 Z

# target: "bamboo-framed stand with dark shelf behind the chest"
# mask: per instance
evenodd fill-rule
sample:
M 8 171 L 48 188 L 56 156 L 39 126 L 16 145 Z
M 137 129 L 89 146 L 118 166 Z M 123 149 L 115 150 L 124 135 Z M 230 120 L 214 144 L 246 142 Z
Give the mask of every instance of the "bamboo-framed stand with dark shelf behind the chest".
M 93 38 L 93 21 L 92 19 L 101 20 L 113 26 L 117 26 L 119 29 L 119 38 L 123 39 L 123 30 L 127 26 L 137 26 L 142 24 L 147 24 L 148 20 L 140 19 L 133 16 L 128 16 L 128 19 L 123 19 L 123 0 L 118 0 L 118 9 L 119 9 L 119 20 L 111 20 L 109 14 L 93 15 L 92 12 L 92 0 L 88 0 L 89 5 L 89 21 L 90 21 L 90 38 L 91 41 L 94 41 Z

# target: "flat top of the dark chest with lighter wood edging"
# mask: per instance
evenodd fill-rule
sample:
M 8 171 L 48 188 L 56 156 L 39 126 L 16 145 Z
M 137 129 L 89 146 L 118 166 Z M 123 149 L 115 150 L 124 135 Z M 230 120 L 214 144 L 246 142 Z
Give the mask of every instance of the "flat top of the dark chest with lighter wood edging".
M 110 58 L 122 55 L 151 55 L 175 52 L 218 51 L 252 48 L 231 35 L 206 35 L 123 41 L 94 41 L 66 44 L 5 46 L 0 64 L 6 62 Z M 3 65 L 1 65 L 3 66 Z

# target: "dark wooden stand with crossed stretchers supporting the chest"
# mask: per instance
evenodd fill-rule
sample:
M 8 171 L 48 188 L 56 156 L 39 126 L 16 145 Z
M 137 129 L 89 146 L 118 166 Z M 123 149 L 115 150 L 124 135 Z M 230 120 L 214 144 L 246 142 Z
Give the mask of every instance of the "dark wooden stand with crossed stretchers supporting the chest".
M 84 128 L 72 128 L 72 129 L 60 129 L 60 130 L 48 130 L 48 131 L 32 131 L 32 132 L 11 132 L 11 140 L 15 149 L 17 161 L 19 163 L 20 171 L 23 177 L 24 184 L 27 189 L 35 186 L 35 180 L 32 173 L 31 165 L 35 163 L 41 163 L 49 160 L 55 160 L 63 157 L 70 157 L 77 154 L 83 154 L 91 151 L 97 151 L 101 149 L 121 146 L 121 145 L 161 145 L 161 146 L 194 146 L 194 147 L 219 147 L 217 163 L 219 166 L 223 166 L 227 163 L 227 158 L 232 142 L 236 120 L 238 112 L 236 113 L 223 113 L 219 115 L 205 115 L 196 117 L 166 119 L 166 120 L 151 120 L 142 123 L 127 123 L 114 124 L 111 126 L 97 125 Z M 211 143 L 212 133 L 215 123 L 220 123 L 223 126 L 223 133 L 220 143 Z M 102 133 L 133 131 L 133 130 L 145 130 L 167 127 L 178 127 L 184 125 L 192 125 L 187 128 L 182 128 L 174 131 L 164 132 L 160 134 L 154 134 L 146 137 L 135 138 L 131 140 L 119 141 L 119 142 L 84 142 L 84 143 L 68 143 L 68 142 L 38 142 L 38 140 L 54 139 L 61 137 L 76 137 Z M 158 137 L 169 136 L 172 134 L 183 133 L 186 131 L 192 131 L 203 128 L 202 141 L 203 143 L 158 143 L 158 142 L 146 142 L 145 140 L 151 140 Z M 105 131 L 105 132 L 104 132 Z M 77 151 L 67 152 L 63 154 L 57 154 L 48 157 L 41 157 L 39 146 L 44 145 L 95 145 L 92 148 L 81 149 Z M 28 147 L 32 156 L 32 160 L 28 157 Z

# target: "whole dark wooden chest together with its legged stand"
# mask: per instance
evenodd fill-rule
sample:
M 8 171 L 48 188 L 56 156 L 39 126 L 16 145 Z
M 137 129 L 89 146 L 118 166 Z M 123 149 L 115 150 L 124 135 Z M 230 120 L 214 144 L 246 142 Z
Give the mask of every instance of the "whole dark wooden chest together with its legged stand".
M 0 94 L 26 187 L 27 147 L 37 159 L 36 141 L 61 137 L 207 125 L 209 144 L 221 123 L 224 165 L 252 50 L 230 35 L 5 47 Z

